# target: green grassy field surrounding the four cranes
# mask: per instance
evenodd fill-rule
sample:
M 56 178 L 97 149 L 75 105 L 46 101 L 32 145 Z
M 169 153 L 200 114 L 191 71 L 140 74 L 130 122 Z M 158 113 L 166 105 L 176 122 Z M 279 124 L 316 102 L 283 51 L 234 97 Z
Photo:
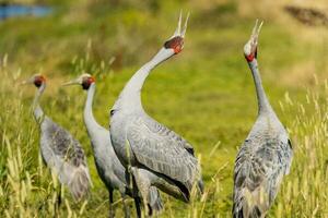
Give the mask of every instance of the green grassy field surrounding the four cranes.
M 263 85 L 295 153 L 269 217 L 328 217 L 327 29 L 293 20 L 281 8 L 284 1 L 269 5 L 269 12 L 266 4 L 245 1 L 256 13 L 245 2 L 227 0 L 50 2 L 49 16 L 0 23 L 0 217 L 54 214 L 58 184 L 38 153 L 31 113 L 35 88 L 19 85 L 36 72 L 48 78 L 45 112 L 82 143 L 94 183 L 84 203 L 73 203 L 65 192 L 60 215 L 107 217 L 107 192 L 82 122 L 85 93 L 60 84 L 82 72 L 94 74 L 94 113 L 108 126 L 119 92 L 172 35 L 180 9 L 191 12 L 185 49 L 152 72 L 142 100 L 153 118 L 194 145 L 206 194 L 189 205 L 162 194 L 162 217 L 231 217 L 234 159 L 257 114 L 243 57 L 257 17 L 265 20 L 258 53 Z M 120 217 L 118 194 L 116 199 Z

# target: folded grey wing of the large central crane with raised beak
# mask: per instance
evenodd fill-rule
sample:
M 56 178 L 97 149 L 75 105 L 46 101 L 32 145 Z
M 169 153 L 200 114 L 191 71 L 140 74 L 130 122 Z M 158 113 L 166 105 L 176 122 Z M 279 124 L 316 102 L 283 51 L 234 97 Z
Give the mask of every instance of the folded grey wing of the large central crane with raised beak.
M 137 119 L 129 126 L 127 138 L 137 160 L 151 170 L 184 183 L 191 189 L 199 175 L 197 159 L 181 146 L 172 131 L 161 131 L 149 124 L 150 121 Z M 179 137 L 180 138 L 180 137 Z

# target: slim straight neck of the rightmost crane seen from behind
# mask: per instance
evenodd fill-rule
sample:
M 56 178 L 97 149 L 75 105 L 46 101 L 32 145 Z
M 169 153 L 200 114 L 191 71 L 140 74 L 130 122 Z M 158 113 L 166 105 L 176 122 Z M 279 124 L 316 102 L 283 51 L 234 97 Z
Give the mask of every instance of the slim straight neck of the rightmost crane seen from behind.
M 248 62 L 248 65 L 250 68 L 255 87 L 256 87 L 256 94 L 258 100 L 258 114 L 266 114 L 266 113 L 273 112 L 270 102 L 267 98 L 265 88 L 262 86 L 261 77 L 258 71 L 257 60 L 253 59 L 253 61 Z

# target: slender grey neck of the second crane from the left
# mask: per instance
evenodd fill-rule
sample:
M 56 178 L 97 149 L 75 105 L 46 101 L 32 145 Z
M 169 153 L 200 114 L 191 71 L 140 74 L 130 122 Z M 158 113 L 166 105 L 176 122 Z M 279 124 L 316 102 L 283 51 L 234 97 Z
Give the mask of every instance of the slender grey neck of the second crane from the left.
M 90 137 L 95 137 L 101 125 L 94 119 L 92 112 L 93 96 L 95 93 L 95 83 L 92 83 L 87 89 L 86 101 L 84 105 L 83 119 Z

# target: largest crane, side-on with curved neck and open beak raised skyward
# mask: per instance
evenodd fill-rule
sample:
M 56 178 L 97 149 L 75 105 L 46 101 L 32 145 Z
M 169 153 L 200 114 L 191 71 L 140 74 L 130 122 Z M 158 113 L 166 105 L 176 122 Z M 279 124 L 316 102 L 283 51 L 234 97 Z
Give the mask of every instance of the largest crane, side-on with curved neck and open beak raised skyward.
M 203 189 L 192 146 L 148 116 L 140 96 L 151 70 L 183 50 L 187 22 L 188 17 L 181 28 L 180 14 L 174 35 L 134 73 L 110 110 L 109 132 L 114 149 L 132 174 L 143 203 L 152 202 L 149 197 L 151 185 L 184 202 L 189 202 L 192 186 Z

